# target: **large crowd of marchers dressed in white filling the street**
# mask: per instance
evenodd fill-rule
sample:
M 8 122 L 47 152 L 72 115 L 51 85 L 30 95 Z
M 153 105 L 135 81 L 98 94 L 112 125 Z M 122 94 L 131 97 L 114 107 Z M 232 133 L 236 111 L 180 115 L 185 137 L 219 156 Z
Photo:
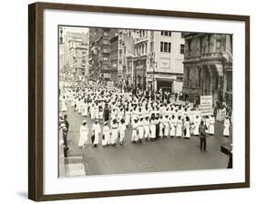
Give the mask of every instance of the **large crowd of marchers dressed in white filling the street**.
M 176 98 L 177 99 L 177 98 Z M 176 99 L 163 97 L 163 93 L 124 91 L 116 87 L 66 85 L 60 91 L 60 111 L 67 111 L 67 103 L 85 117 L 79 131 L 78 146 L 85 148 L 91 139 L 93 147 L 124 144 L 130 137 L 132 143 L 159 138 L 190 138 L 190 135 L 214 135 L 215 117 L 201 117 L 200 108 L 191 104 L 179 104 Z M 87 117 L 93 122 L 91 136 Z M 62 119 L 67 121 L 67 117 Z M 101 129 L 100 124 L 103 124 Z M 204 126 L 205 128 L 202 128 Z M 223 136 L 230 136 L 230 118 L 223 123 Z M 126 134 L 131 128 L 131 135 Z M 204 129 L 205 134 L 200 134 Z M 67 139 L 67 138 L 66 138 Z M 67 141 L 65 142 L 67 145 Z

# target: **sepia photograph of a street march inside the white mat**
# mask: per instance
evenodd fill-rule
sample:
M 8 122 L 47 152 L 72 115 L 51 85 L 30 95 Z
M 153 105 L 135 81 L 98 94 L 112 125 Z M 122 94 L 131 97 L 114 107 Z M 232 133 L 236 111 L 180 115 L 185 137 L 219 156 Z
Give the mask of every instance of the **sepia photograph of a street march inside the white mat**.
M 56 29 L 59 178 L 232 168 L 232 34 Z

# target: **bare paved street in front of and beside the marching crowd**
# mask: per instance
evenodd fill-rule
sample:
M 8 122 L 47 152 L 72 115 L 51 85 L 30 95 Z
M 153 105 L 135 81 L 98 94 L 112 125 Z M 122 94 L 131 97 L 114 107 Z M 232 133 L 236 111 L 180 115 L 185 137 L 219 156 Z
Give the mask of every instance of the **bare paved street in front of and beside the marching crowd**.
M 124 146 L 103 148 L 78 148 L 79 128 L 87 119 L 89 129 L 92 121 L 82 117 L 73 108 L 67 106 L 67 120 L 70 124 L 68 133 L 68 157 L 63 158 L 60 149 L 59 176 L 85 176 L 124 174 L 160 171 L 179 171 L 189 169 L 227 168 L 228 157 L 220 152 L 220 145 L 230 141 L 223 138 L 223 125 L 216 122 L 215 136 L 207 138 L 207 151 L 200 152 L 200 138 L 162 138 L 156 141 L 145 141 L 142 144 L 130 142 L 129 127 Z M 90 138 L 89 132 L 88 138 Z M 101 144 L 101 140 L 100 140 Z

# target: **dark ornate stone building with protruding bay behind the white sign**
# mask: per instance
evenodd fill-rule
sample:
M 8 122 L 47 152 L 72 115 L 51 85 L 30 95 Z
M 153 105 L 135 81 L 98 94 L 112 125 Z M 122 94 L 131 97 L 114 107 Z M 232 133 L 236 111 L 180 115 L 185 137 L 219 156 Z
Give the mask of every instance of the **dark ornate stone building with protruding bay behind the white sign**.
M 184 99 L 211 95 L 213 103 L 232 104 L 232 36 L 184 33 Z

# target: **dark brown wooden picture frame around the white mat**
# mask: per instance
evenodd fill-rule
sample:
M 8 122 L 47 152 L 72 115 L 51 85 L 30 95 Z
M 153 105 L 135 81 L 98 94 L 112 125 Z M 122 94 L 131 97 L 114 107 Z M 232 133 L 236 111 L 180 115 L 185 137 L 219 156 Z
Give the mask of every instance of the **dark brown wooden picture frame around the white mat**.
M 115 191 L 80 192 L 44 195 L 43 187 L 43 12 L 45 9 L 91 11 L 128 15 L 161 15 L 186 18 L 203 18 L 241 21 L 245 23 L 245 182 L 197 185 L 153 189 L 119 189 Z M 108 7 L 95 5 L 67 5 L 35 3 L 28 5 L 28 198 L 36 201 L 56 199 L 85 199 L 128 196 L 209 189 L 237 189 L 250 187 L 250 16 L 191 13 L 140 8 Z

